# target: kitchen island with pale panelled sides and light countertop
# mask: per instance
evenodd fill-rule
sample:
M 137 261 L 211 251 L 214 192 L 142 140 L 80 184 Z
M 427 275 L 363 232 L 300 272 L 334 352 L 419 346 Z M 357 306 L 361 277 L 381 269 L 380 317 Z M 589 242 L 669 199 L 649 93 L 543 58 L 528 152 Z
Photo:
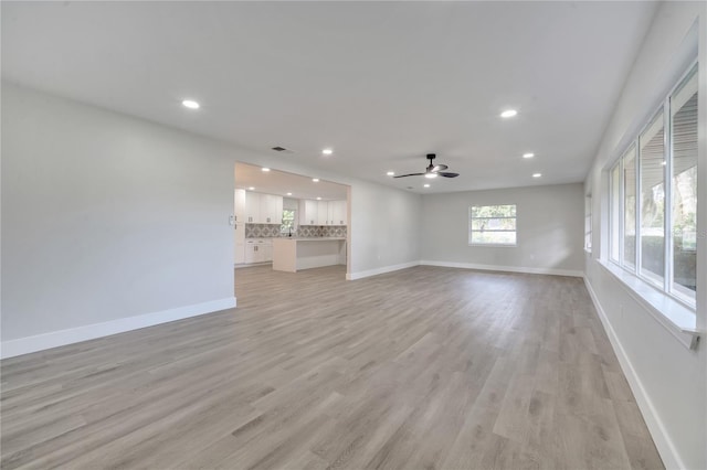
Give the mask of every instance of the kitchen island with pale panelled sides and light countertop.
M 273 238 L 273 269 L 300 269 L 346 265 L 345 237 Z

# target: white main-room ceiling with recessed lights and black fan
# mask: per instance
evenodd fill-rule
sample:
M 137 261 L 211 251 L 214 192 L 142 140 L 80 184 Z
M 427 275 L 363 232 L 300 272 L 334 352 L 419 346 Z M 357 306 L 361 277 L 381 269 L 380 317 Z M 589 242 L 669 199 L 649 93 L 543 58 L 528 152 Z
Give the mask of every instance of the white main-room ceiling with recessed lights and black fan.
M 656 3 L 1 9 L 6 79 L 262 152 L 283 146 L 294 153 L 282 158 L 329 172 L 447 192 L 582 181 Z M 187 97 L 201 109 L 183 108 Z M 519 115 L 500 119 L 508 107 Z M 461 177 L 422 190 L 421 177 L 384 175 L 422 171 L 428 152 Z

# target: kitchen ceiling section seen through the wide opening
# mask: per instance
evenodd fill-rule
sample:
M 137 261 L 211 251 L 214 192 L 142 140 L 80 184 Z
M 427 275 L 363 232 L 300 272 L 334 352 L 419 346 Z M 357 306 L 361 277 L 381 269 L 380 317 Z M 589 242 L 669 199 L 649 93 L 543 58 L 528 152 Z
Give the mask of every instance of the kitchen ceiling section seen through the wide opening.
M 292 199 L 317 199 L 323 201 L 342 201 L 347 199 L 348 188 L 342 184 L 331 183 L 319 179 L 314 182 L 312 178 L 284 171 L 263 172 L 262 167 L 235 163 L 235 188 L 266 193 L 279 194 Z M 292 194 L 287 194 L 292 193 Z

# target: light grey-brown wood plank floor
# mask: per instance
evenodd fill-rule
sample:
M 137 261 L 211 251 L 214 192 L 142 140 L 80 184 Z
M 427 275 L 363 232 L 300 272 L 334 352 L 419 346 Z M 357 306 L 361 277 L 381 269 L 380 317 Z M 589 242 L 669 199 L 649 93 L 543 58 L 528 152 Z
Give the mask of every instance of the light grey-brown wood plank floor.
M 663 468 L 581 279 L 257 267 L 236 291 L 3 361 L 2 468 Z

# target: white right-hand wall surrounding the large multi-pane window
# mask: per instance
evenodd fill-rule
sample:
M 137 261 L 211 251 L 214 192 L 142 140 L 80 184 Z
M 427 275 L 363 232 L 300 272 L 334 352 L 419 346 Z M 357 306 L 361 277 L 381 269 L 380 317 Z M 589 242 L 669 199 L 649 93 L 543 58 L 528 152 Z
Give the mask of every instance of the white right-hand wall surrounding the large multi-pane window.
M 690 351 L 632 298 L 600 263 L 608 257 L 609 165 L 654 113 L 699 47 L 698 253 L 707 253 L 707 3 L 661 6 L 599 147 L 585 186 L 592 193 L 593 253 L 587 282 L 639 406 L 668 468 L 707 468 L 707 351 Z M 695 21 L 699 25 L 688 34 Z M 707 328 L 707 257 L 698 258 L 697 325 Z

